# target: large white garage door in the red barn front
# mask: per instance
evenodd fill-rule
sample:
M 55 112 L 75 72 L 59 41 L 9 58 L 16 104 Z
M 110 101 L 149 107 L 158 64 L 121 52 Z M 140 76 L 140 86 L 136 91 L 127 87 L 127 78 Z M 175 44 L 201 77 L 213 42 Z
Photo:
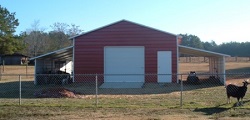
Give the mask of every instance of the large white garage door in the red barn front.
M 104 82 L 144 82 L 144 47 L 105 47 Z

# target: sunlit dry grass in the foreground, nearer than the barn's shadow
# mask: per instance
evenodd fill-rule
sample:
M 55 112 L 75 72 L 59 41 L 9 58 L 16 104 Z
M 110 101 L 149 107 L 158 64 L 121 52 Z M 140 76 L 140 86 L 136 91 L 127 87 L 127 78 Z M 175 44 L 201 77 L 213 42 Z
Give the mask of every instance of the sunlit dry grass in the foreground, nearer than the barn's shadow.
M 80 85 L 79 85 L 80 86 Z M 67 88 L 70 88 L 68 86 Z M 81 89 L 78 86 L 75 89 Z M 25 89 L 25 88 L 24 88 Z M 73 89 L 73 86 L 72 88 Z M 154 90 L 159 91 L 160 88 Z M 185 88 L 184 88 L 185 89 Z M 163 94 L 116 95 L 101 94 L 98 106 L 94 95 L 83 98 L 1 98 L 1 119 L 249 119 L 249 92 L 244 106 L 236 107 L 236 100 L 226 104 L 225 88 L 215 86 L 202 89 L 186 88 L 183 106 L 180 92 Z M 26 88 L 24 96 L 30 96 Z M 101 91 L 101 90 L 100 90 Z

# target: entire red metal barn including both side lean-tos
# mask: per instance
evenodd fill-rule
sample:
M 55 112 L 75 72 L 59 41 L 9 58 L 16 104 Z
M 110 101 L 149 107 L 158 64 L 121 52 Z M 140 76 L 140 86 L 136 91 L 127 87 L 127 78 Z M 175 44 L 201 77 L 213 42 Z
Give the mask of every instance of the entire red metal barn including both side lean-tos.
M 72 37 L 72 46 L 31 60 L 35 60 L 35 76 L 60 70 L 71 74 L 74 82 L 94 82 L 93 74 L 101 74 L 98 80 L 104 84 L 139 83 L 141 86 L 145 82 L 177 82 L 179 54 L 187 54 L 208 57 L 208 73 L 225 83 L 225 57 L 229 55 L 179 45 L 179 38 L 121 20 Z M 35 84 L 39 83 L 37 78 Z

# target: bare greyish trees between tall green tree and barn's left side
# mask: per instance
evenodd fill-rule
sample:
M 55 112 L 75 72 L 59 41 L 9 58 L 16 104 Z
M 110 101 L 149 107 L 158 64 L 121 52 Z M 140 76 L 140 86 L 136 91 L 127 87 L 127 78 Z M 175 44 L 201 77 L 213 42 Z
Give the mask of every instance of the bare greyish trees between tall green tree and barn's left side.
M 54 23 L 50 26 L 51 31 L 45 32 L 39 27 L 39 21 L 34 21 L 31 29 L 23 32 L 22 40 L 25 48 L 22 52 L 28 56 L 34 57 L 51 51 L 62 49 L 72 45 L 70 37 L 82 33 L 79 26 L 75 24 Z

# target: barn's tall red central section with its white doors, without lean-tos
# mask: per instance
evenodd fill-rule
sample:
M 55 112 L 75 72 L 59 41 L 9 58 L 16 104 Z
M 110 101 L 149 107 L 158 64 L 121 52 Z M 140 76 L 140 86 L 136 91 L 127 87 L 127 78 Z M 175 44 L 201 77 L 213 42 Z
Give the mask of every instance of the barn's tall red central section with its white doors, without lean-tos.
M 105 74 L 104 82 L 176 82 L 177 36 L 122 20 L 76 36 L 74 74 Z M 145 74 L 158 75 L 152 79 Z M 75 79 L 75 81 L 84 81 Z

